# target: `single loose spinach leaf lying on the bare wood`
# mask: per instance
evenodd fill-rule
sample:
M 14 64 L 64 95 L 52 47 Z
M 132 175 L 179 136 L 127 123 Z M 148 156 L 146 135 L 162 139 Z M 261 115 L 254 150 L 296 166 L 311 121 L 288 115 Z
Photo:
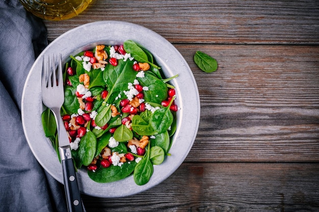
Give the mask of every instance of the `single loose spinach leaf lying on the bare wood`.
M 201 51 L 196 51 L 194 55 L 194 62 L 202 71 L 207 73 L 214 72 L 218 68 L 216 59 Z

